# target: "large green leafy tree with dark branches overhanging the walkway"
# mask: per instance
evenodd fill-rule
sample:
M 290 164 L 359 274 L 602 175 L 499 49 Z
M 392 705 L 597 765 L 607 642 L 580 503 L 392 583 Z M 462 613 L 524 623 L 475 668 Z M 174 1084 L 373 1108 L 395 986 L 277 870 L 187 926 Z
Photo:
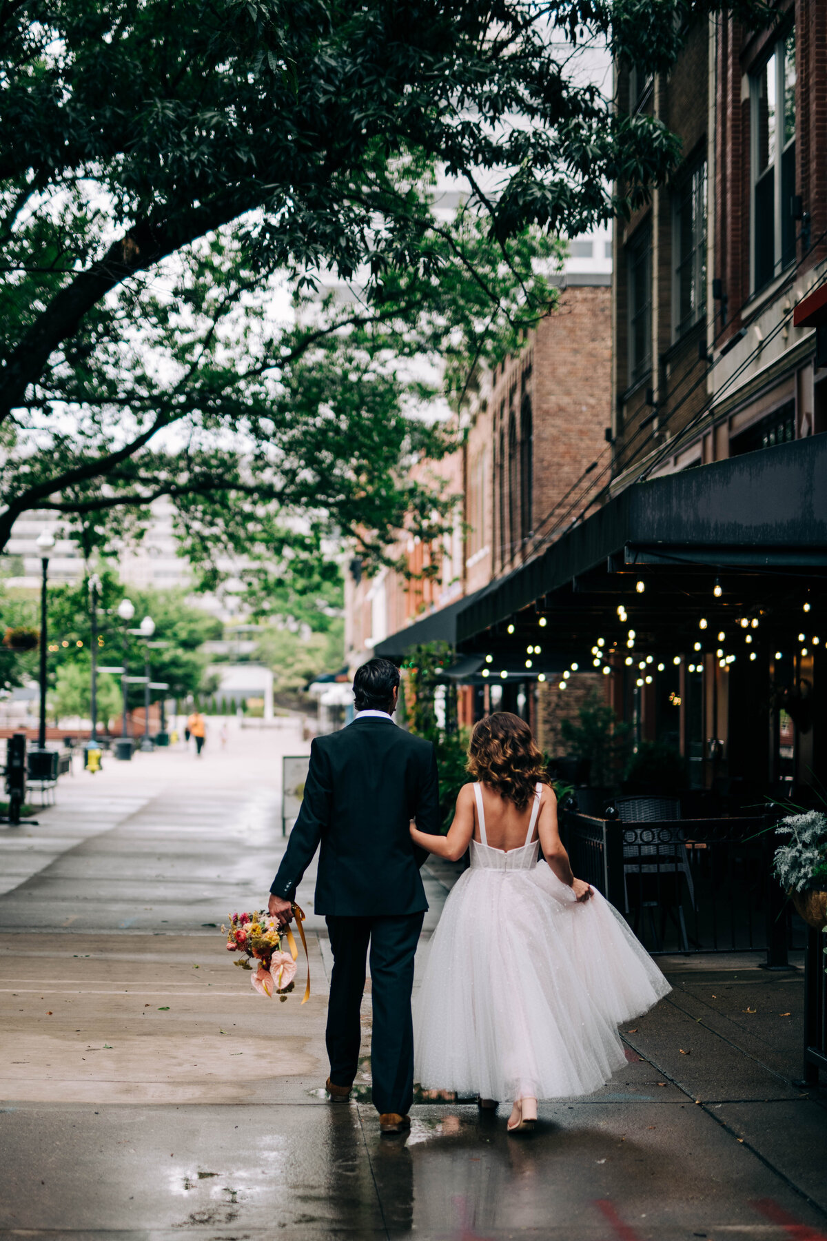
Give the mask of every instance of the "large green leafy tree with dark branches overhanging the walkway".
M 399 359 L 444 356 L 460 402 L 551 305 L 549 238 L 627 215 L 678 155 L 554 41 L 668 71 L 720 7 L 4 5 L 0 549 L 37 508 L 88 550 L 157 495 L 213 575 L 216 547 L 286 575 L 331 532 L 368 557 L 405 515 L 435 532 L 407 465 L 444 437 Z M 467 187 L 450 222 L 438 164 Z M 348 295 L 306 302 L 331 282 Z M 279 289 L 298 319 L 278 321 Z

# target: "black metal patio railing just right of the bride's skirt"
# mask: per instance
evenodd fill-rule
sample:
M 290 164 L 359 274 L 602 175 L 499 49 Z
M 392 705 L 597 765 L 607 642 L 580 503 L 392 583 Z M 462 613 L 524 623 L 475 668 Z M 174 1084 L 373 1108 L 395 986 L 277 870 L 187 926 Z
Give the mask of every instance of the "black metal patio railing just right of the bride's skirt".
M 791 911 L 772 877 L 765 817 L 621 823 L 560 812 L 579 879 L 652 953 L 765 952 L 787 964 Z

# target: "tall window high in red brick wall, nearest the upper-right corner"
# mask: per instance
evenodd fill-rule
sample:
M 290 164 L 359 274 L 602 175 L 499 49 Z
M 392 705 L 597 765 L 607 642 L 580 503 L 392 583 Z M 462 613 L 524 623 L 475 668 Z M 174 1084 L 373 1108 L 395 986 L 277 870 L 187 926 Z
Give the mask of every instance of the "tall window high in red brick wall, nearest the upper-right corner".
M 795 96 L 796 45 L 790 31 L 750 77 L 754 293 L 796 257 L 790 202 L 796 187 Z

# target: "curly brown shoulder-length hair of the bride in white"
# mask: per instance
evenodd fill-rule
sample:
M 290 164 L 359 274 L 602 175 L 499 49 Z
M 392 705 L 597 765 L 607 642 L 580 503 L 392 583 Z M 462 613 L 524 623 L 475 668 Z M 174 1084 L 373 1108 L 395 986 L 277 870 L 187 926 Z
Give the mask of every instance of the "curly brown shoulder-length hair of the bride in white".
M 475 725 L 466 771 L 518 810 L 528 805 L 538 782 L 551 784 L 531 728 L 511 711 L 495 711 Z

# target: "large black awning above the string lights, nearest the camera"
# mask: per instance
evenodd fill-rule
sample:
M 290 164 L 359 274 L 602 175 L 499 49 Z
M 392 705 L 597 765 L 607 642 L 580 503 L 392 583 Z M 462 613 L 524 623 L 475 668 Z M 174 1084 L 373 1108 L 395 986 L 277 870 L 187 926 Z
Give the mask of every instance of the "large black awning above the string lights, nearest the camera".
M 827 567 L 827 434 L 629 486 L 507 577 L 462 601 L 458 642 L 595 568 Z

